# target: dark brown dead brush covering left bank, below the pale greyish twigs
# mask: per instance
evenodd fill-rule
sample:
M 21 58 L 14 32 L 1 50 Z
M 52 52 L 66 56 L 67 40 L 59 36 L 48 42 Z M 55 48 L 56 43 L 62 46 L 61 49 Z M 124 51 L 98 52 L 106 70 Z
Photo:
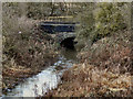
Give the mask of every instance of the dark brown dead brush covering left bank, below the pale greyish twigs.
M 20 25 L 22 28 L 24 24 Z M 23 28 L 27 30 L 27 26 Z M 51 36 L 35 29 L 27 30 L 28 32 L 23 30 L 20 31 L 21 33 L 16 32 L 3 36 L 6 38 L 2 61 L 3 92 L 57 61 Z

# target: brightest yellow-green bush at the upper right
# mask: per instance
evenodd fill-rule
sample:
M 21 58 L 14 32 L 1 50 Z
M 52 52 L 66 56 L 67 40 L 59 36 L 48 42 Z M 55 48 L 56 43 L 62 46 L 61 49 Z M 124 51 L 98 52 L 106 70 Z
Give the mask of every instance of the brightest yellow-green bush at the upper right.
M 121 8 L 116 3 L 100 3 L 99 7 L 99 12 L 95 14 L 95 31 L 100 36 L 106 36 L 126 28 L 120 12 Z

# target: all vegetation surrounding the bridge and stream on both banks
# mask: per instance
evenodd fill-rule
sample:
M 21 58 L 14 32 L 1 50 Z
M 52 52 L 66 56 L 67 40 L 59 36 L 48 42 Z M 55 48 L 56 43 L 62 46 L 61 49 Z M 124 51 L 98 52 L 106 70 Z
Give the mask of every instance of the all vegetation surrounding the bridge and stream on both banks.
M 66 70 L 62 84 L 47 96 L 133 97 L 131 8 L 126 2 L 3 3 L 3 88 L 55 58 L 54 41 L 35 23 L 50 15 L 72 15 L 64 21 L 80 22 L 80 64 Z

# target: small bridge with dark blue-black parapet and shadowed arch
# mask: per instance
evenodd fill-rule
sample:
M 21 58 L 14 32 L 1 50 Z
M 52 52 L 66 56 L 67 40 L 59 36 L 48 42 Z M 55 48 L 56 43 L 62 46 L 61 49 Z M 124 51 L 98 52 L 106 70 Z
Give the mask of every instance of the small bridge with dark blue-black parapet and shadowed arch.
M 40 29 L 49 33 L 62 47 L 74 48 L 75 28 L 74 22 L 41 22 Z

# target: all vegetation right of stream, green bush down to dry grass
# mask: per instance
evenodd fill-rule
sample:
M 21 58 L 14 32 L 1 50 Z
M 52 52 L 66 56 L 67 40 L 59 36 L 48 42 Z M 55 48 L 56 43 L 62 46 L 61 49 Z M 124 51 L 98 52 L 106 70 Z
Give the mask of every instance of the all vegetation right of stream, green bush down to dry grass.
M 63 74 L 49 97 L 133 97 L 131 3 L 92 7 L 79 13 L 85 15 L 76 36 L 80 64 Z

